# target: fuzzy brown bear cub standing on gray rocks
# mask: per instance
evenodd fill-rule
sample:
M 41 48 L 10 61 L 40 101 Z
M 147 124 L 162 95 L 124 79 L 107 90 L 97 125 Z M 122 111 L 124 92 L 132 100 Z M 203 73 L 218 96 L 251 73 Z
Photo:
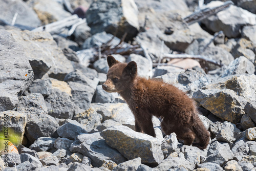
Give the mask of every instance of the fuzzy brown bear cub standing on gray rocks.
M 135 116 L 135 130 L 156 137 L 152 116 L 161 117 L 166 135 L 176 133 L 178 139 L 203 149 L 209 143 L 209 132 L 197 115 L 195 103 L 171 84 L 137 76 L 135 61 L 121 63 L 108 56 L 110 70 L 102 84 L 106 92 L 117 92 Z

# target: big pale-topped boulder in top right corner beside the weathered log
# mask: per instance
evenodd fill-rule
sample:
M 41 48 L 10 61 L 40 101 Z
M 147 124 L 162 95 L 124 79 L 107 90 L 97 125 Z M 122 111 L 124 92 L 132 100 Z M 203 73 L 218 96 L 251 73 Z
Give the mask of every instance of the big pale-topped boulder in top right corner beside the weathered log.
M 223 2 L 213 1 L 206 5 L 207 7 L 215 7 L 223 5 Z M 213 32 L 223 31 L 229 37 L 238 37 L 241 35 L 242 27 L 245 25 L 255 25 L 256 15 L 242 8 L 231 5 L 226 10 L 220 11 L 215 15 L 202 20 L 202 23 Z

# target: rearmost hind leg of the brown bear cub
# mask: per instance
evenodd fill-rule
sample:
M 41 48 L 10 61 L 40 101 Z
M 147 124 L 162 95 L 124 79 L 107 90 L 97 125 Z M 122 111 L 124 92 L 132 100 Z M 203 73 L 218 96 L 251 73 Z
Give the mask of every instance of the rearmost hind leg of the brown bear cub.
M 194 115 L 194 124 L 193 124 L 193 131 L 196 133 L 199 142 L 193 143 L 193 146 L 197 146 L 200 149 L 204 149 L 209 144 L 210 140 L 210 133 L 206 130 L 203 122 L 201 119 L 196 115 Z

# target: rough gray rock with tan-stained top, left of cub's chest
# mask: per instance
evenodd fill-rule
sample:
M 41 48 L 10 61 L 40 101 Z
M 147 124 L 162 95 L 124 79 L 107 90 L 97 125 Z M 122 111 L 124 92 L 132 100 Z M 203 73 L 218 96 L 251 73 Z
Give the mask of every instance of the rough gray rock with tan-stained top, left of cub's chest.
M 78 121 L 84 126 L 87 132 L 90 132 L 101 124 L 102 116 L 98 114 L 93 107 L 90 107 L 82 113 L 75 114 L 73 120 Z

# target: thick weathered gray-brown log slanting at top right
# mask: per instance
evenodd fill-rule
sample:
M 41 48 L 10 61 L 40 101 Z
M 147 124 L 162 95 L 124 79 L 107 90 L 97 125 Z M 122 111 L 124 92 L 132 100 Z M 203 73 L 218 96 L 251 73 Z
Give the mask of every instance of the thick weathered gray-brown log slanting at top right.
M 194 12 L 193 14 L 188 15 L 183 19 L 188 25 L 191 25 L 193 23 L 200 22 L 204 18 L 207 18 L 211 15 L 214 15 L 222 10 L 229 8 L 230 5 L 233 5 L 233 2 L 227 1 L 221 6 L 202 9 L 201 11 Z

